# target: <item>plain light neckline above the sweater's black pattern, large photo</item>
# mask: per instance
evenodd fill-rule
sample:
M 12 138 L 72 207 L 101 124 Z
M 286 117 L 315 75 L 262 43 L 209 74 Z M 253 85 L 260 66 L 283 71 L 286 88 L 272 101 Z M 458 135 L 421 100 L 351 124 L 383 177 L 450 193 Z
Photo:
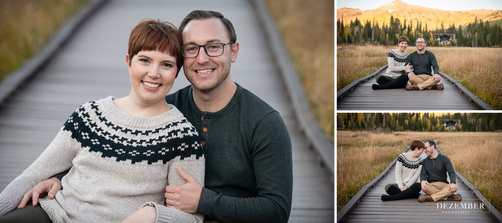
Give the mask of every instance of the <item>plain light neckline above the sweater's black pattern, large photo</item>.
M 156 128 L 165 126 L 173 121 L 180 120 L 184 116 L 181 112 L 172 104 L 168 104 L 171 108 L 163 114 L 152 117 L 140 117 L 127 114 L 125 111 L 117 107 L 113 100 L 117 99 L 114 96 L 108 96 L 106 98 L 96 101 L 98 107 L 101 107 L 103 115 L 109 121 L 122 125 L 135 128 Z

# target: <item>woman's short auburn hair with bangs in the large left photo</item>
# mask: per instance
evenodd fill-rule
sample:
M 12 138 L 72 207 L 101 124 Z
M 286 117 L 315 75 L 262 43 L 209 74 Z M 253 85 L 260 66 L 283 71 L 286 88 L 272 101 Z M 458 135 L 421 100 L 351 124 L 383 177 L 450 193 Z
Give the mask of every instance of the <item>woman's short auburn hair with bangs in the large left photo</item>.
M 179 73 L 183 66 L 181 43 L 181 33 L 173 24 L 144 19 L 131 31 L 128 48 L 129 64 L 140 51 L 159 51 L 176 58 L 176 68 Z

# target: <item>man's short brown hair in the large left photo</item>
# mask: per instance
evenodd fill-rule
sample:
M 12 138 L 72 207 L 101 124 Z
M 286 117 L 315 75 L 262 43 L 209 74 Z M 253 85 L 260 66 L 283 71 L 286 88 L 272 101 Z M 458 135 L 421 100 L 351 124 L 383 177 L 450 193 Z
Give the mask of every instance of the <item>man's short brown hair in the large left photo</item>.
M 214 12 L 214 11 L 205 11 L 205 10 L 195 10 L 189 13 L 183 21 L 181 21 L 179 30 L 183 33 L 185 26 L 192 20 L 206 20 L 211 18 L 217 18 L 223 23 L 223 26 L 226 28 L 226 32 L 228 33 L 228 38 L 230 39 L 230 43 L 235 43 L 237 41 L 237 35 L 235 34 L 235 29 L 233 28 L 232 23 L 227 18 L 223 17 L 223 14 Z

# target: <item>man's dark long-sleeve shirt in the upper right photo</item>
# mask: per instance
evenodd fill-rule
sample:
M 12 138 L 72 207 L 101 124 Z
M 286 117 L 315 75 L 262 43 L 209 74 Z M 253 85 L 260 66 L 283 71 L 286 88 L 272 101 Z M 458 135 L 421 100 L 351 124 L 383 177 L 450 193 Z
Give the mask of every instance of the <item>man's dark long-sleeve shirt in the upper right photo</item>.
M 406 59 L 406 64 L 408 63 L 413 66 L 413 73 L 415 75 L 427 74 L 432 76 L 436 73 L 439 74 L 436 56 L 431 51 L 426 50 L 423 54 L 419 54 L 417 51 L 411 53 L 408 59 Z M 431 66 L 434 73 L 432 73 Z

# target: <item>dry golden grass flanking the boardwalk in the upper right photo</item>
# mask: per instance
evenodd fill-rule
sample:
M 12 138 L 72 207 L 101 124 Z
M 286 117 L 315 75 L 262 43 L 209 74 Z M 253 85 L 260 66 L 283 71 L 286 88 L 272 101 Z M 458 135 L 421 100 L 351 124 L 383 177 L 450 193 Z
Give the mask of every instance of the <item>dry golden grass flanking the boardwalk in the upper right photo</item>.
M 337 90 L 387 64 L 396 46 L 337 46 Z M 496 110 L 502 109 L 502 79 L 497 67 L 502 48 L 426 47 L 436 55 L 439 70 L 458 80 Z M 416 51 L 415 46 L 406 50 Z

